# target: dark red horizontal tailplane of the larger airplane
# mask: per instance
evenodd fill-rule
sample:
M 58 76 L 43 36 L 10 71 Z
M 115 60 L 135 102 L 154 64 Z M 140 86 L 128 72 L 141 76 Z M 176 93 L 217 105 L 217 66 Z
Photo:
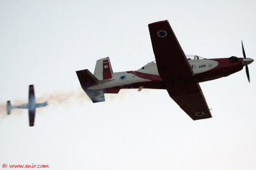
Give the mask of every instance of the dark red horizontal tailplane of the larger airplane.
M 88 97 L 90 97 L 93 103 L 105 101 L 104 93 L 102 90 L 88 89 L 88 87 L 97 85 L 99 83 L 99 80 L 88 69 L 76 71 L 76 74 L 82 89 L 84 92 L 86 92 Z

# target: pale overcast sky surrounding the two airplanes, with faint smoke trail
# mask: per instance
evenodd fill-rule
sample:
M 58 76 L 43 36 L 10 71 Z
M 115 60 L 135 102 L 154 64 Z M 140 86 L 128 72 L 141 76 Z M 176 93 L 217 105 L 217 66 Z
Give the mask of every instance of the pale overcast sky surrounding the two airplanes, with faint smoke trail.
M 255 1 L 0 0 L 0 167 L 256 169 L 256 66 L 200 83 L 212 118 L 193 121 L 166 90 L 121 90 L 93 104 L 76 71 L 109 57 L 113 71 L 155 60 L 148 24 L 169 20 L 186 54 L 255 59 Z M 35 85 L 35 127 L 27 102 Z M 20 100 L 20 101 L 15 101 Z

